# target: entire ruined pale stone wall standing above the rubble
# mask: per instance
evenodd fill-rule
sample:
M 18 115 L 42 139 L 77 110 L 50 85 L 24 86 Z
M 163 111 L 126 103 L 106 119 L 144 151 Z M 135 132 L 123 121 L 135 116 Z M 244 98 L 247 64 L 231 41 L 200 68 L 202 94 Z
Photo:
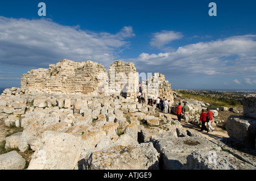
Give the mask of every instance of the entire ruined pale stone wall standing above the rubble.
M 61 60 L 48 69 L 30 70 L 22 75 L 20 89 L 49 94 L 117 95 L 135 100 L 139 92 L 139 73 L 132 62 L 114 61 L 109 71 L 93 61 Z M 171 102 L 171 84 L 164 75 L 155 73 L 142 85 L 142 94 Z

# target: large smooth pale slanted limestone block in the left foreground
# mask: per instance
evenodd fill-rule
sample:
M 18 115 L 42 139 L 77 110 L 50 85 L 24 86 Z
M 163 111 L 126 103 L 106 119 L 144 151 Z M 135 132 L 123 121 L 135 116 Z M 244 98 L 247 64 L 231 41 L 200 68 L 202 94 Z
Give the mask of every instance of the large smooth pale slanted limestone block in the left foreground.
M 31 157 L 28 170 L 73 170 L 81 153 L 81 136 L 46 131 L 42 146 Z

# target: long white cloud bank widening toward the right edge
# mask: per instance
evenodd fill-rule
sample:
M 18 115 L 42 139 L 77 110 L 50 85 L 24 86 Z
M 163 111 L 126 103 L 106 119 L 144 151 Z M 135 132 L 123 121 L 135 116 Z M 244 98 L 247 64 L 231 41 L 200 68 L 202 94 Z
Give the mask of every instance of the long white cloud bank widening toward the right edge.
M 145 65 L 159 65 L 166 73 L 173 75 L 256 77 L 255 37 L 233 36 L 185 45 L 173 52 L 142 53 L 135 61 L 141 68 Z

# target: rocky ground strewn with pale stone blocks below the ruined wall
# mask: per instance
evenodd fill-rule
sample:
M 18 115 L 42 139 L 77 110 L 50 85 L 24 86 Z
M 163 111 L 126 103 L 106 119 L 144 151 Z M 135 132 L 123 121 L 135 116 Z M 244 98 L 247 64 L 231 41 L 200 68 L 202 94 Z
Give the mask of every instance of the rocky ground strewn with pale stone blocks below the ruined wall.
M 0 141 L 18 150 L 25 169 L 256 169 L 255 148 L 223 129 L 226 117 L 237 113 L 215 111 L 214 131 L 200 132 L 196 123 L 205 103 L 196 100 L 186 100 L 191 122 L 179 123 L 174 113 L 115 97 L 4 98 Z M 18 157 L 8 154 L 1 164 L 1 157 Z

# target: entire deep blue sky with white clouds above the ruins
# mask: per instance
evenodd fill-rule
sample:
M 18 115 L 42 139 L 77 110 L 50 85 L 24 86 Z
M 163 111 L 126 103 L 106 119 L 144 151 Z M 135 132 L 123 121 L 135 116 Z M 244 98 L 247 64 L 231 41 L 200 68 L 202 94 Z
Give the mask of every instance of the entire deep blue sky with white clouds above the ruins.
M 0 1 L 0 87 L 67 58 L 107 70 L 134 62 L 173 89 L 256 90 L 255 8 L 248 0 Z

